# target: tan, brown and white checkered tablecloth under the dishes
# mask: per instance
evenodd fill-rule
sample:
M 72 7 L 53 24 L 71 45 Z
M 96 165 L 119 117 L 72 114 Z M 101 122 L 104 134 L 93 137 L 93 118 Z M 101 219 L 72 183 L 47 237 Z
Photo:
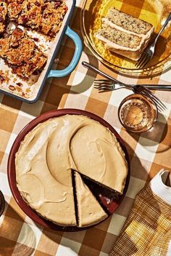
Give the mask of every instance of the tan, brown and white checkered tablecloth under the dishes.
M 79 4 L 78 2 L 78 6 Z M 79 20 L 78 7 L 72 18 L 72 28 L 81 36 Z M 73 51 L 72 42 L 64 39 L 58 53 L 58 68 L 64 68 L 70 63 Z M 47 80 L 37 103 L 29 105 L 12 97 L 0 95 L 0 190 L 6 200 L 4 215 L 0 217 L 1 256 L 70 256 L 72 255 L 70 249 L 75 255 L 80 256 L 107 256 L 125 223 L 135 194 L 160 169 L 171 171 L 171 92 L 155 92 L 167 105 L 167 111 L 159 113 L 157 124 L 151 132 L 141 135 L 128 133 L 120 125 L 117 108 L 122 98 L 130 92 L 120 89 L 99 94 L 92 87 L 96 73 L 83 68 L 81 65 L 83 60 L 99 65 L 101 70 L 125 83 L 171 84 L 171 71 L 152 79 L 130 79 L 115 74 L 99 63 L 88 48 L 83 47 L 83 54 L 75 71 L 62 79 Z M 125 140 L 130 157 L 130 185 L 120 207 L 112 217 L 100 225 L 78 233 L 52 231 L 33 223 L 17 206 L 7 180 L 9 151 L 20 130 L 41 113 L 57 108 L 80 108 L 104 118 Z

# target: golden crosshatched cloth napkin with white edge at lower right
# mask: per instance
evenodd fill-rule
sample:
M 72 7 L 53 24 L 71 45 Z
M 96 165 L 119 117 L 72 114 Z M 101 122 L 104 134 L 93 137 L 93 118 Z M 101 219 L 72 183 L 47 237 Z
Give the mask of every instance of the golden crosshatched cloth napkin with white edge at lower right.
M 162 184 L 155 183 L 154 179 L 151 180 L 151 183 L 154 184 L 153 189 L 155 190 L 158 186 L 161 197 L 154 193 L 151 184 L 146 185 L 138 192 L 133 203 L 133 209 L 130 211 L 110 256 L 170 255 L 171 205 L 162 199 L 164 189 L 166 189 L 168 199 L 170 198 L 170 191 L 167 186 L 164 186 L 162 191 Z

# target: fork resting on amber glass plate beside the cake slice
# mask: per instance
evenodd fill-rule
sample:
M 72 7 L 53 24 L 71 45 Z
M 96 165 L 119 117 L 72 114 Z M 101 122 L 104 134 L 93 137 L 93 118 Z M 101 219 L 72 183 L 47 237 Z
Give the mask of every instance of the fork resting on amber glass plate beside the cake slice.
M 135 64 L 136 68 L 144 68 L 147 65 L 147 63 L 149 63 L 149 61 L 152 59 L 159 36 L 161 35 L 162 31 L 164 31 L 164 28 L 167 26 L 170 20 L 171 20 L 171 12 L 170 12 L 170 15 L 167 17 L 167 20 L 164 22 L 164 25 L 160 29 L 154 42 L 144 50 L 143 55 L 141 55 L 141 58 Z

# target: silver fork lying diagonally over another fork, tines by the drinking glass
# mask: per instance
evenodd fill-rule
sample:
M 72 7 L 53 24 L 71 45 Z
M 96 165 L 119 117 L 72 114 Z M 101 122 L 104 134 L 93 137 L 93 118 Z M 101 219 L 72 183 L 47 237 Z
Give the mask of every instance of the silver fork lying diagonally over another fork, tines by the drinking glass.
M 158 97 L 156 97 L 154 95 L 154 93 L 152 93 L 149 89 L 147 89 L 146 87 L 142 86 L 142 85 L 132 85 L 132 84 L 125 84 L 121 81 L 118 81 L 117 79 L 114 79 L 112 76 L 109 76 L 107 75 L 107 73 L 104 73 L 103 71 L 99 71 L 98 68 L 95 68 L 93 67 L 93 65 L 90 65 L 89 63 L 86 63 L 86 61 L 83 61 L 82 62 L 82 65 L 86 68 L 90 68 L 91 70 L 95 71 L 96 73 L 99 73 L 101 76 L 104 76 L 105 78 L 109 79 L 110 81 L 113 81 L 114 83 L 116 83 L 117 85 L 120 85 L 122 87 L 126 87 L 128 89 L 131 89 L 133 92 L 135 93 L 140 93 L 141 95 L 145 95 L 146 97 L 149 97 L 151 98 L 151 100 L 154 102 L 154 104 L 157 105 L 157 108 L 160 110 L 160 111 L 164 111 L 165 109 L 167 109 L 167 107 L 162 103 L 161 100 L 158 99 Z M 102 86 L 102 85 L 101 85 Z M 100 87 L 100 84 L 99 84 L 99 87 Z M 103 84 L 103 87 L 104 87 L 104 84 Z M 106 85 L 104 87 L 105 89 L 104 90 L 112 90 L 112 87 L 111 89 L 109 89 L 109 84 Z M 98 88 L 100 89 L 100 88 Z

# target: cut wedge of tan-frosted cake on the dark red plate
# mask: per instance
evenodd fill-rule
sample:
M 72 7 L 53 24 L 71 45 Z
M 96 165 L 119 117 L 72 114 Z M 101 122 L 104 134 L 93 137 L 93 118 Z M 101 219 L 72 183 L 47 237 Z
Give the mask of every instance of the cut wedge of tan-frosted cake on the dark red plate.
M 86 227 L 100 223 L 107 218 L 107 213 L 91 193 L 88 186 L 83 183 L 78 172 L 75 172 L 75 190 L 78 205 L 78 225 Z

